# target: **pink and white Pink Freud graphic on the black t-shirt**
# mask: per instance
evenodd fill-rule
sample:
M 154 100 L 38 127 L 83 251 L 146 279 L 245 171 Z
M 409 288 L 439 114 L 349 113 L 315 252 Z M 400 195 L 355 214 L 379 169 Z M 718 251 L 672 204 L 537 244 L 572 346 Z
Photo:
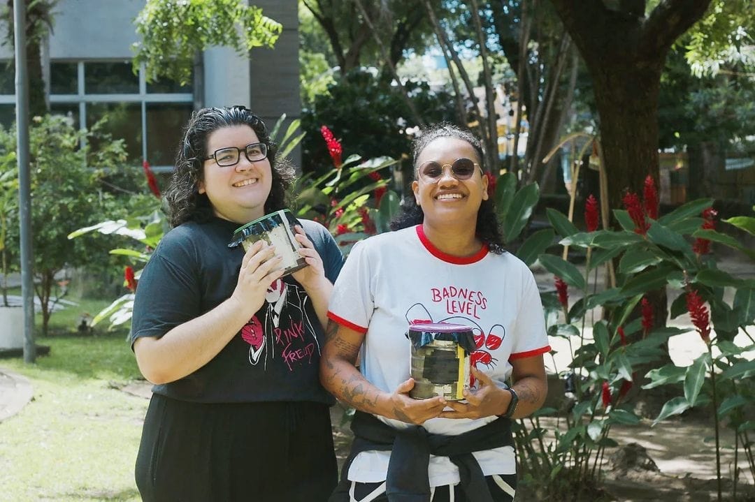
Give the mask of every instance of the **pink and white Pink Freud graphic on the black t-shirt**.
M 288 371 L 310 365 L 320 346 L 305 306 L 309 297 L 303 289 L 281 279 L 273 282 L 265 293 L 263 319 L 255 314 L 242 328 L 241 336 L 249 344 L 249 363 L 257 366 L 278 357 Z

